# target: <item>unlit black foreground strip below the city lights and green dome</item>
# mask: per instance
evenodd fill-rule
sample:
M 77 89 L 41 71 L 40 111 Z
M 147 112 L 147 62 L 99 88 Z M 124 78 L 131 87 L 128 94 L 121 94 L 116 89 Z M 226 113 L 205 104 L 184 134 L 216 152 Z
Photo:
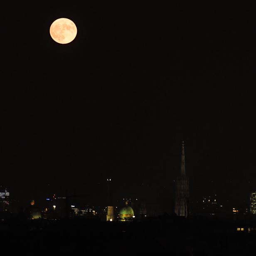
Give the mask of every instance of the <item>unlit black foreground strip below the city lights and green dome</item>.
M 255 255 L 256 232 L 238 222 L 174 216 L 141 222 L 98 219 L 0 222 L 2 250 L 26 255 Z M 252 224 L 253 225 L 253 224 Z

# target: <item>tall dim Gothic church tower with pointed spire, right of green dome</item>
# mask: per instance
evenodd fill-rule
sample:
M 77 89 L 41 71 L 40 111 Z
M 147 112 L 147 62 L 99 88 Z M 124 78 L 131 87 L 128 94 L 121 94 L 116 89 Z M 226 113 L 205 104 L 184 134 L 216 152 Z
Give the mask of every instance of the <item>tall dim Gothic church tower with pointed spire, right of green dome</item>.
M 189 202 L 189 186 L 188 186 L 188 177 L 185 171 L 184 142 L 182 142 L 180 175 L 177 176 L 176 190 L 175 190 L 175 210 L 174 211 L 177 214 L 177 216 L 187 217 L 188 202 Z

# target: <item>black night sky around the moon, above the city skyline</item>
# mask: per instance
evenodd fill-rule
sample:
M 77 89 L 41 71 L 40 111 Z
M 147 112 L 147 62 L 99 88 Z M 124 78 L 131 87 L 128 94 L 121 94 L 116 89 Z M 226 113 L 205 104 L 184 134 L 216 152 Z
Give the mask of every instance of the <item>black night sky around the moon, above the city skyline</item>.
M 1 22 L 0 184 L 168 202 L 185 140 L 193 198 L 256 190 L 255 5 L 10 3 Z M 242 4 L 242 5 L 241 5 Z M 70 44 L 51 23 L 73 20 Z M 99 185 L 97 183 L 100 183 Z

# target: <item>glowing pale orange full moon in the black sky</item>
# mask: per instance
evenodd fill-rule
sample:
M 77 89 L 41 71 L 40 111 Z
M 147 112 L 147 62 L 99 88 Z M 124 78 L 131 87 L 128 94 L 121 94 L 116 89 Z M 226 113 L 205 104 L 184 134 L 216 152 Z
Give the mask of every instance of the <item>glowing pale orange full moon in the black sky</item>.
M 77 29 L 72 20 L 60 18 L 52 22 L 50 35 L 59 44 L 68 44 L 76 37 Z

